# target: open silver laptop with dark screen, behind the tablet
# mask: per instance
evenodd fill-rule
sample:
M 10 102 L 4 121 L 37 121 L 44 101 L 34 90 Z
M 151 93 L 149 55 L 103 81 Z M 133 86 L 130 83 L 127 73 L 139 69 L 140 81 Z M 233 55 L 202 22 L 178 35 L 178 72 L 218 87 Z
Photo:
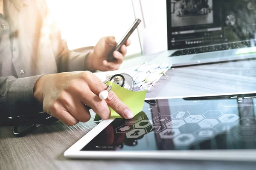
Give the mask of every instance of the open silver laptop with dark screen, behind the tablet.
M 168 50 L 157 61 L 177 67 L 255 58 L 255 0 L 166 0 L 166 11 Z

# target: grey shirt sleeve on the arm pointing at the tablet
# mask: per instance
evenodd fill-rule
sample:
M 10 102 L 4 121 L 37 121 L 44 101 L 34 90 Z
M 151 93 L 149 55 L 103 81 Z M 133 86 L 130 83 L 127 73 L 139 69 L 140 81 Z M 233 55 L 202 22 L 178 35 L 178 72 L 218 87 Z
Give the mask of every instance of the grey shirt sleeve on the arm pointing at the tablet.
M 43 106 L 33 97 L 35 82 L 42 75 L 16 79 L 0 77 L 0 123 L 9 116 L 20 116 L 43 111 Z

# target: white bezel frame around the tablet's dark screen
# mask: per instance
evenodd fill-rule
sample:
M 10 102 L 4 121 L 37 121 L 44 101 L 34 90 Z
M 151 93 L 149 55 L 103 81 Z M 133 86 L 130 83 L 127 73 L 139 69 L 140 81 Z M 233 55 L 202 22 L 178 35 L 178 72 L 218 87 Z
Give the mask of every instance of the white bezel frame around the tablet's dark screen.
M 256 94 L 256 91 L 239 93 L 222 93 L 193 96 L 172 96 L 145 98 L 175 99 L 208 96 L 235 96 L 242 94 Z M 75 144 L 64 152 L 70 159 L 193 159 L 193 160 L 225 160 L 225 161 L 256 161 L 256 150 L 156 150 L 156 151 L 81 151 L 81 149 L 105 129 L 114 119 L 100 122 L 96 127 L 85 134 Z

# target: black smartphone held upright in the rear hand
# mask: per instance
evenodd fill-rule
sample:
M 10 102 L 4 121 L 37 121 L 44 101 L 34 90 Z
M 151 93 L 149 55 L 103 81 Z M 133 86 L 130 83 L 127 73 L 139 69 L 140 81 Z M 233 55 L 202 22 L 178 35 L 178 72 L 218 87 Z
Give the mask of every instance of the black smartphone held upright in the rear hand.
M 131 34 L 134 32 L 134 30 L 137 28 L 137 26 L 140 24 L 141 20 L 136 19 L 134 23 L 131 25 L 131 27 L 128 29 L 128 31 L 125 33 L 125 35 L 122 37 L 122 39 L 116 44 L 116 46 L 113 48 L 113 50 L 110 51 L 107 57 L 108 62 L 115 61 L 116 58 L 113 57 L 113 52 L 114 51 L 119 51 L 121 52 L 121 47 L 122 45 L 125 44 L 125 42 L 128 40 L 128 38 L 131 36 Z

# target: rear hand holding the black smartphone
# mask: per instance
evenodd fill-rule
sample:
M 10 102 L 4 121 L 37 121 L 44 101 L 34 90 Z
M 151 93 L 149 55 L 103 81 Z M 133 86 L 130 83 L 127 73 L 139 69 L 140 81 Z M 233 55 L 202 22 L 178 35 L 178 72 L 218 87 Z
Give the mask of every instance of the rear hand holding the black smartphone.
M 123 62 L 124 56 L 127 53 L 127 46 L 131 44 L 130 40 L 127 40 L 125 45 L 122 45 L 121 52 L 114 51 L 113 56 L 117 59 L 113 62 L 107 61 L 107 56 L 110 51 L 115 47 L 115 37 L 102 37 L 94 47 L 93 51 L 88 55 L 87 68 L 90 71 L 112 71 L 117 70 Z

